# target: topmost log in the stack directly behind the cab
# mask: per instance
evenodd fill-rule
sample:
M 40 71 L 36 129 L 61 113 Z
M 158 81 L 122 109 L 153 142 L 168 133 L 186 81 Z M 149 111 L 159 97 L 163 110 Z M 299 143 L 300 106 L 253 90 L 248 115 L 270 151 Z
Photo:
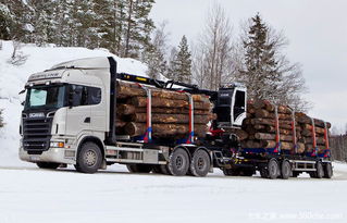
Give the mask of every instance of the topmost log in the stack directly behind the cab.
M 138 85 L 125 83 L 125 82 L 117 82 L 116 86 L 117 90 L 117 97 L 147 97 L 147 92 L 145 89 L 142 89 Z M 184 92 L 177 92 L 173 90 L 168 90 L 168 89 L 158 89 L 158 88 L 152 88 L 151 89 L 151 95 L 152 97 L 158 97 L 158 98 L 165 98 L 165 99 L 175 99 L 175 100 L 187 100 L 188 96 Z M 210 102 L 210 99 L 206 95 L 191 95 L 194 101 L 199 101 L 199 102 Z

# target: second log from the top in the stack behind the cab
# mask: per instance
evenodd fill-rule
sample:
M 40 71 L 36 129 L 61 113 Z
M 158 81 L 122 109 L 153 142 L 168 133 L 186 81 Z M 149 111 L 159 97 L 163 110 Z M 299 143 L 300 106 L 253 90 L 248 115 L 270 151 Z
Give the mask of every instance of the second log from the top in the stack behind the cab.
M 131 100 L 132 104 L 135 107 L 146 107 L 147 98 L 146 97 L 133 97 Z M 152 98 L 152 107 L 161 107 L 161 108 L 189 108 L 188 100 L 171 100 L 171 99 L 162 99 L 162 98 Z M 208 102 L 194 102 L 195 109 L 200 110 L 211 110 L 212 103 Z

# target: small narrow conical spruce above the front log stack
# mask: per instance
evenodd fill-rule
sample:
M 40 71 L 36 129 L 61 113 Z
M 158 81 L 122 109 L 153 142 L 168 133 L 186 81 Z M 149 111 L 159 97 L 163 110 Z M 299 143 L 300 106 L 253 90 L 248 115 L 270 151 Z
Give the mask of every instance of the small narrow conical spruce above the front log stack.
M 173 73 L 176 77 L 175 80 L 183 83 L 191 82 L 191 53 L 188 48 L 187 38 L 182 37 L 178 46 L 178 53 L 174 60 Z

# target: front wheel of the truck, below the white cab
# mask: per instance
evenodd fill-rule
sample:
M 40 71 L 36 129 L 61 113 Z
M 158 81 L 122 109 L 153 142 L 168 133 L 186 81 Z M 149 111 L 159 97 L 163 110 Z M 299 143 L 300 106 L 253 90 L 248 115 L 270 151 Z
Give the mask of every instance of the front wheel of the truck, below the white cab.
M 83 144 L 78 151 L 76 170 L 82 173 L 96 173 L 101 163 L 102 154 L 98 145 L 91 141 Z

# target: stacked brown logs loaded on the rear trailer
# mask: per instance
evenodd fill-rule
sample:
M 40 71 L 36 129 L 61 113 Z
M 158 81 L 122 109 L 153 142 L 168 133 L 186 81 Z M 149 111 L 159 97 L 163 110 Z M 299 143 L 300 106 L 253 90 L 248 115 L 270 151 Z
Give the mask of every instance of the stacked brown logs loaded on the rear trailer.
M 287 106 L 277 107 L 278 132 L 282 150 L 303 153 L 310 152 L 313 148 L 312 120 L 307 114 L 295 113 L 293 119 L 292 109 Z M 275 106 L 265 100 L 248 102 L 247 117 L 243 122 L 241 129 L 235 131 L 238 134 L 241 147 L 244 148 L 275 148 L 276 147 L 276 115 Z M 325 149 L 324 122 L 314 121 L 314 133 L 319 152 Z M 295 126 L 295 132 L 294 132 Z M 331 124 L 327 123 L 330 128 Z M 296 145 L 294 140 L 296 136 Z M 295 146 L 296 149 L 295 150 Z

